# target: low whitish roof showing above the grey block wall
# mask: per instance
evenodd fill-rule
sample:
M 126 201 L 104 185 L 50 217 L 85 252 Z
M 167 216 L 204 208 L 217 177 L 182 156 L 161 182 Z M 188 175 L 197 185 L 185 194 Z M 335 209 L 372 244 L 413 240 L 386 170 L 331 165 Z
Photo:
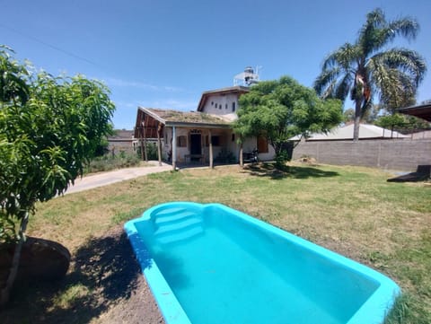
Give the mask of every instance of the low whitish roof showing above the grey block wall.
M 305 141 L 346 141 L 353 140 L 354 124 L 349 124 L 343 127 L 335 127 L 329 133 L 313 133 L 308 136 Z M 369 139 L 391 139 L 391 138 L 410 138 L 390 129 L 385 129 L 375 125 L 360 124 L 359 125 L 359 140 Z M 290 138 L 292 141 L 299 141 L 300 136 Z

